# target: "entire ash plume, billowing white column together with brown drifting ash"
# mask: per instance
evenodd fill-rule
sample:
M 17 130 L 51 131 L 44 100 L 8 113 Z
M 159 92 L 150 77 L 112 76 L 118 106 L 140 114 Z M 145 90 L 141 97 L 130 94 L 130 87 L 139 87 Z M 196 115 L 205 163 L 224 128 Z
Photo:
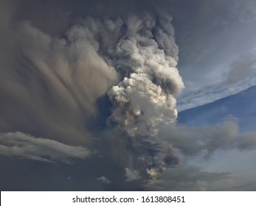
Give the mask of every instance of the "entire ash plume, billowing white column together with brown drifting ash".
M 66 7 L 60 10 L 63 19 L 69 18 Z M 15 134 L 15 140 L 27 134 L 35 141 L 44 137 L 96 152 L 114 162 L 111 169 L 119 169 L 123 182 L 154 180 L 179 163 L 176 149 L 159 140 L 159 126 L 175 124 L 174 95 L 184 88 L 176 68 L 179 49 L 172 18 L 163 12 L 108 13 L 83 15 L 68 21 L 72 26 L 61 23 L 59 28 L 44 25 L 41 17 L 27 19 L 24 13 L 21 20 L 18 15 L 7 18 L 15 26 L 4 24 L 2 39 L 8 41 L 0 49 L 0 132 L 4 137 Z M 104 97 L 111 104 L 109 113 L 102 113 L 106 105 L 97 104 Z M 95 132 L 98 118 L 107 131 Z M 103 137 L 104 132 L 114 138 Z M 103 148 L 106 141 L 111 148 Z M 20 153 L 7 149 L 8 155 L 32 159 L 26 148 Z M 96 153 L 78 158 L 102 163 Z M 104 172 L 97 178 L 114 185 L 112 172 Z

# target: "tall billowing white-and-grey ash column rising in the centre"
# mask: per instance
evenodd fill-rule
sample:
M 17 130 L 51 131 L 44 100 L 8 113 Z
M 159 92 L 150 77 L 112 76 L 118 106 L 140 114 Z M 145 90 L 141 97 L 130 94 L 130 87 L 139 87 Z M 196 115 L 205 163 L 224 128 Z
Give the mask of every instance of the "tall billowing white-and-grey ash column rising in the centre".
M 150 179 L 178 162 L 176 151 L 158 141 L 159 125 L 176 121 L 173 95 L 184 87 L 170 21 L 168 15 L 129 15 L 119 21 L 125 29 L 119 29 L 116 46 L 108 50 L 111 63 L 124 76 L 108 91 L 114 105 L 108 123 L 131 142 L 131 167 Z

